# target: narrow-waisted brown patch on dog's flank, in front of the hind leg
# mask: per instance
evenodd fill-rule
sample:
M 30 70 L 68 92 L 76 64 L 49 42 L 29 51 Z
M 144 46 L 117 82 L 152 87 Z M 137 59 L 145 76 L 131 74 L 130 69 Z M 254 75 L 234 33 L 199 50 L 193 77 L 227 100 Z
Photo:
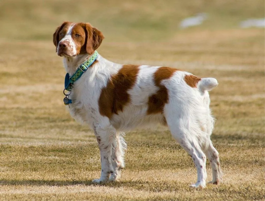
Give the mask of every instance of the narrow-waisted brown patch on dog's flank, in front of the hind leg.
M 158 87 L 158 91 L 155 94 L 151 95 L 148 99 L 148 115 L 163 113 L 163 108 L 168 102 L 168 93 L 167 88 L 164 85 L 161 85 L 161 81 L 169 79 L 176 71 L 178 71 L 178 69 L 160 67 L 154 73 L 154 84 Z

